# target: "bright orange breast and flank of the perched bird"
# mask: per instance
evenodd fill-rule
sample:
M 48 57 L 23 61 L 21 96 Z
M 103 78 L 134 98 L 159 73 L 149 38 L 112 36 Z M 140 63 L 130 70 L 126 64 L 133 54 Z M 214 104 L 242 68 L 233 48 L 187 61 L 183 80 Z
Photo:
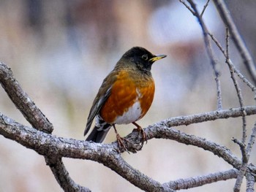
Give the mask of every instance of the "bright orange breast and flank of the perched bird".
M 138 77 L 138 74 L 120 72 L 111 93 L 99 115 L 108 123 L 115 123 L 118 116 L 124 115 L 135 101 L 140 101 L 142 118 L 154 99 L 154 80 L 152 77 Z M 132 122 L 130 122 L 132 123 Z

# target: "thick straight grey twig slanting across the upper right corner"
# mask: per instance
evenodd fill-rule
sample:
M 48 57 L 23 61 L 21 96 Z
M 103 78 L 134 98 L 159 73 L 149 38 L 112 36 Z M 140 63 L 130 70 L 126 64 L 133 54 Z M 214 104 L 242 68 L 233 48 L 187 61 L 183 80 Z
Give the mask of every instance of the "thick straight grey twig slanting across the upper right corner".
M 256 84 L 256 68 L 255 63 L 252 60 L 252 56 L 249 54 L 249 50 L 244 45 L 244 41 L 241 38 L 240 34 L 238 33 L 238 29 L 236 28 L 233 19 L 230 16 L 230 13 L 225 5 L 223 0 L 213 0 L 215 7 L 219 12 L 223 22 L 227 26 L 230 31 L 231 38 L 233 39 L 234 44 L 236 45 L 237 50 L 239 51 L 241 58 L 244 60 L 244 64 L 247 68 L 247 71 L 252 77 L 253 82 Z

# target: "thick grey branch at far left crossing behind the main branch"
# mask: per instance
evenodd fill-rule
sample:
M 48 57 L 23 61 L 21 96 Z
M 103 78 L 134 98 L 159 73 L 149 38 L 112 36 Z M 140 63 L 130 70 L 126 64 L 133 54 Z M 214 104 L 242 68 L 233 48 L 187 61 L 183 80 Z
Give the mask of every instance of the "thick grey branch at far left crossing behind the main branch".
M 18 110 L 20 110 L 26 120 L 31 123 L 31 126 L 45 133 L 51 133 L 53 131 L 52 123 L 50 123 L 41 110 L 39 110 L 27 93 L 23 91 L 18 81 L 13 77 L 12 70 L 1 62 L 0 83 Z M 49 160 L 50 159 L 45 156 L 47 164 Z M 54 161 L 56 166 L 50 166 L 50 169 L 59 185 L 61 185 L 61 188 L 66 191 L 77 191 L 77 189 L 80 189 L 80 191 L 89 191 L 89 189 L 77 185 L 71 177 L 69 177 L 67 169 L 60 158 L 51 157 L 51 161 Z

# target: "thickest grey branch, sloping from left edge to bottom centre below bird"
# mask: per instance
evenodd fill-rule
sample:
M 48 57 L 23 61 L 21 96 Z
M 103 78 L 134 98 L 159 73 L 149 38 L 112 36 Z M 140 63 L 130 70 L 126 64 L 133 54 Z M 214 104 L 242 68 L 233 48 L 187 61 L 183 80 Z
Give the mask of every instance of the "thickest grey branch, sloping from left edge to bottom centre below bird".
M 48 165 L 51 168 L 55 167 L 53 173 L 56 172 L 57 175 L 55 175 L 58 182 L 63 183 L 64 180 L 67 180 L 69 183 L 73 183 L 73 181 L 69 179 L 66 170 L 63 170 L 63 172 L 67 174 L 67 177 L 63 177 L 62 175 L 58 176 L 58 174 L 61 173 L 59 169 L 63 169 L 64 166 L 59 167 L 60 163 L 58 161 L 55 163 L 54 161 L 56 159 L 60 160 L 61 157 L 82 158 L 97 161 L 108 166 L 110 169 L 120 174 L 121 177 L 124 177 L 130 183 L 145 191 L 171 191 L 170 189 L 163 188 L 161 183 L 152 180 L 151 177 L 146 176 L 127 164 L 127 162 L 121 158 L 121 153 L 118 153 L 118 145 L 116 142 L 104 145 L 83 140 L 56 137 L 37 131 L 34 128 L 20 125 L 1 113 L 0 134 L 8 139 L 15 140 L 25 147 L 35 150 L 40 155 L 50 157 L 50 160 L 53 159 L 53 161 L 48 161 Z M 76 188 L 81 188 L 78 185 L 72 186 L 67 184 L 66 186 L 61 185 L 61 187 L 72 187 L 72 190 L 69 189 L 67 191 L 75 191 Z M 86 190 L 87 189 L 84 188 L 84 191 Z

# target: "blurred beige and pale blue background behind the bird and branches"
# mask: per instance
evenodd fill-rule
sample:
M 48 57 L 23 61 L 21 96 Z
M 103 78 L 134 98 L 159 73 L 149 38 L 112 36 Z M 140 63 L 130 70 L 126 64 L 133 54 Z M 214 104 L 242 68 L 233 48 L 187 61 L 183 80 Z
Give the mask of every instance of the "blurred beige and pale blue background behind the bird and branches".
M 205 1 L 195 2 L 202 10 Z M 227 1 L 227 6 L 254 56 L 256 1 Z M 211 2 L 203 18 L 225 47 L 225 27 Z M 85 139 L 86 119 L 102 80 L 133 46 L 167 55 L 152 67 L 156 93 L 151 109 L 138 121 L 140 126 L 217 109 L 216 85 L 202 31 L 178 1 L 1 0 L 0 28 L 0 61 L 12 68 L 24 91 L 53 123 L 53 134 L 58 137 Z M 215 45 L 213 49 L 222 74 L 223 107 L 238 107 L 225 60 Z M 249 78 L 232 42 L 230 57 Z M 244 104 L 255 105 L 252 91 L 239 82 Z M 30 126 L 1 88 L 0 111 Z M 248 133 L 254 123 L 255 117 L 247 118 Z M 232 137 L 241 139 L 241 125 L 241 118 L 230 118 L 178 129 L 225 145 L 241 158 L 238 145 L 231 141 Z M 125 136 L 133 128 L 118 126 L 118 132 Z M 105 142 L 115 139 L 111 130 Z M 0 191 L 62 191 L 42 156 L 2 136 L 0 147 Z M 137 154 L 122 155 L 161 183 L 232 168 L 212 153 L 164 139 L 150 140 Z M 255 163 L 255 149 L 250 160 Z M 64 164 L 76 183 L 92 191 L 140 191 L 93 161 L 64 158 Z M 234 183 L 222 181 L 189 191 L 231 191 Z

